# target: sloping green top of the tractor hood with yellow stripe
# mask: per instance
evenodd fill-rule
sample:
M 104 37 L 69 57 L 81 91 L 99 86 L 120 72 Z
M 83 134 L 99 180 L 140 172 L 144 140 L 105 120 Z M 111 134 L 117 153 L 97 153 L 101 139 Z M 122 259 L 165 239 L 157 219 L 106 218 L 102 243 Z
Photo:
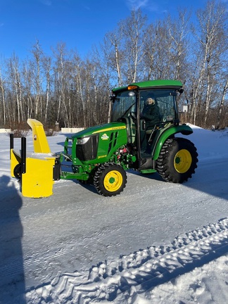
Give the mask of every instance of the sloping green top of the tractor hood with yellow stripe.
M 95 127 L 88 127 L 87 129 L 84 129 L 80 132 L 75 133 L 72 135 L 72 139 L 75 137 L 82 138 L 82 137 L 88 137 L 93 134 L 108 132 L 108 131 L 116 131 L 120 129 L 126 129 L 126 125 L 123 122 L 110 122 L 104 125 L 98 125 Z

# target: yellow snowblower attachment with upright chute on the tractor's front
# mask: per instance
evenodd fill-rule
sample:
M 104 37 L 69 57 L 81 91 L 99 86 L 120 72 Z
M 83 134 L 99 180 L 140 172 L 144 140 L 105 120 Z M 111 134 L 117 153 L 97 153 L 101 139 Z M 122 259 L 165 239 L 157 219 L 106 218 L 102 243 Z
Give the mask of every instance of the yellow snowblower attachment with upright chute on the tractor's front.
M 26 151 L 26 139 L 21 139 L 21 150 L 13 149 L 11 134 L 11 176 L 20 179 L 23 196 L 42 198 L 51 196 L 54 172 L 57 165 L 56 156 L 51 153 L 41 122 L 27 120 L 32 128 L 34 151 Z

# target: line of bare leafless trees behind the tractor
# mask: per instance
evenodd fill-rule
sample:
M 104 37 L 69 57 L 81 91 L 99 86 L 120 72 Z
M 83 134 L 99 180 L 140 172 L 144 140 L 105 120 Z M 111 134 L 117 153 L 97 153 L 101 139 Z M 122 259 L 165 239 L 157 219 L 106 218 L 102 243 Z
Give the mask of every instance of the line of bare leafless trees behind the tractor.
M 1 63 L 0 127 L 27 118 L 49 127 L 108 122 L 113 87 L 154 79 L 183 82 L 183 120 L 227 127 L 227 49 L 227 9 L 215 0 L 151 24 L 141 10 L 132 11 L 86 58 L 63 43 L 47 56 L 37 41 L 26 61 L 13 54 Z

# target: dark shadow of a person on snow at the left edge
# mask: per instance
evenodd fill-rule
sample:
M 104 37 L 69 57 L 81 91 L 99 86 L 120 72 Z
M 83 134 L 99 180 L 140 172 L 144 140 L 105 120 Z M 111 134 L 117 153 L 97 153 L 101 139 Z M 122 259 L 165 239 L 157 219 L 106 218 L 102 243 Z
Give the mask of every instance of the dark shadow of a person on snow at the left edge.
M 0 177 L 0 191 L 0 303 L 18 301 L 23 304 L 23 226 L 19 215 L 23 201 L 14 184 L 11 184 L 11 178 L 6 175 Z

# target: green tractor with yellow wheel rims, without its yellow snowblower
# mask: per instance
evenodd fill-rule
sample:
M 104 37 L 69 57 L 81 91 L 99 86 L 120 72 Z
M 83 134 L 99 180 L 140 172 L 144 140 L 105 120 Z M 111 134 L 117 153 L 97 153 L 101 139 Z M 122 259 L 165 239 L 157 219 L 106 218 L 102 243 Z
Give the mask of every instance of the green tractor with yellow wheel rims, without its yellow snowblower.
M 111 122 L 65 139 L 56 179 L 92 183 L 103 196 L 120 194 L 129 169 L 158 172 L 167 182 L 189 179 L 197 167 L 198 153 L 191 141 L 176 137 L 193 132 L 188 125 L 179 124 L 177 96 L 182 91 L 182 82 L 177 80 L 150 80 L 113 89 Z M 152 99 L 151 105 L 146 105 L 148 99 Z M 145 107 L 151 113 L 157 109 L 156 120 Z M 70 170 L 63 171 L 64 166 Z

